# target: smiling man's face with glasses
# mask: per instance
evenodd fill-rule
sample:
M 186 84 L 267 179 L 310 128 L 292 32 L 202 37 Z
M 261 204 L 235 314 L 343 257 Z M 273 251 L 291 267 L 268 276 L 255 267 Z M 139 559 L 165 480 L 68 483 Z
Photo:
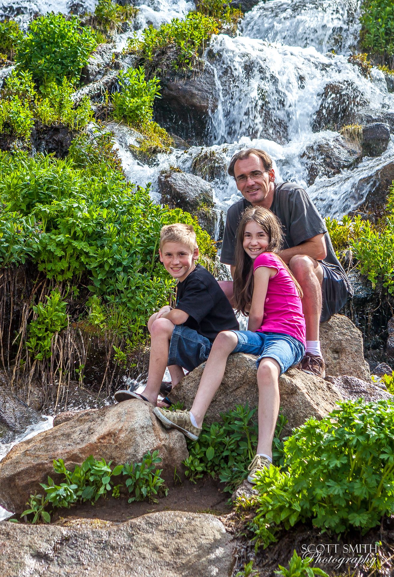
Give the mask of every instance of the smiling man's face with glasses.
M 261 176 L 256 175 L 259 171 L 262 173 Z M 248 158 L 237 160 L 234 165 L 234 176 L 239 192 L 249 203 L 255 207 L 271 207 L 273 187 L 270 184 L 275 180 L 275 173 L 273 170 L 266 170 L 258 156 L 251 154 Z M 244 182 L 243 177 L 246 177 Z

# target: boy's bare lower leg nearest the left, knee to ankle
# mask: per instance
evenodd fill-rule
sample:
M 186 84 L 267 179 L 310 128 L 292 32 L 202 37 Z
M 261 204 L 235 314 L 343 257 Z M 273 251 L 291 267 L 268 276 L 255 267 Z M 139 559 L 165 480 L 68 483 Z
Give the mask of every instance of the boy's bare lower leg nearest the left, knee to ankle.
M 174 323 L 171 323 L 170 320 L 163 318 L 155 319 L 150 323 L 150 327 L 148 324 L 151 332 L 151 354 L 149 355 L 148 381 L 144 396 L 152 404 L 157 403 L 157 395 L 166 372 L 168 351 L 170 350 L 170 340 L 174 326 Z

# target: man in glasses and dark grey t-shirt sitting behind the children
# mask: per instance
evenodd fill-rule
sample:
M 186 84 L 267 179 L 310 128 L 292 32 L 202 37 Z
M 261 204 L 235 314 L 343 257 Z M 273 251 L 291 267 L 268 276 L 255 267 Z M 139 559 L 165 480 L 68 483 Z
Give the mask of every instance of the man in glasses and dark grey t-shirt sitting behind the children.
M 324 220 L 295 183 L 275 184 L 272 160 L 267 152 L 249 148 L 235 154 L 228 167 L 243 198 L 231 205 L 224 230 L 222 263 L 230 264 L 234 276 L 235 235 L 241 213 L 250 205 L 265 207 L 282 222 L 284 246 L 280 253 L 303 290 L 306 353 L 301 368 L 324 378 L 319 323 L 328 320 L 345 304 L 352 287 L 336 258 Z M 232 282 L 220 283 L 232 299 Z

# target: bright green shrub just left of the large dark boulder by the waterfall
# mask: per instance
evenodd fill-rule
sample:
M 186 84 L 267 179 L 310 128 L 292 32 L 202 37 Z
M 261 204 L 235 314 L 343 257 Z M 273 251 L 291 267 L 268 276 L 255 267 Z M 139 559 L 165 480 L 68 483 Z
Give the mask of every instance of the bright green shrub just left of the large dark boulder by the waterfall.
M 129 68 L 118 74 L 120 92 L 112 96 L 114 118 L 125 122 L 133 128 L 144 128 L 153 115 L 153 101 L 160 98 L 159 79 L 153 77 L 145 80 L 145 70 Z

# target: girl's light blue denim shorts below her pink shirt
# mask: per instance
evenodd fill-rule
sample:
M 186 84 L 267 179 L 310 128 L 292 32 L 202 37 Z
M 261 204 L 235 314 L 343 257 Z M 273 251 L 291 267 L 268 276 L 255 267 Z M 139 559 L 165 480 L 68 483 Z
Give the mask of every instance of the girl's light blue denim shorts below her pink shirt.
M 238 344 L 233 353 L 256 355 L 256 365 L 262 358 L 272 358 L 279 363 L 280 374 L 286 373 L 292 365 L 300 362 L 305 354 L 305 347 L 293 336 L 279 332 L 232 331 L 238 337 Z

